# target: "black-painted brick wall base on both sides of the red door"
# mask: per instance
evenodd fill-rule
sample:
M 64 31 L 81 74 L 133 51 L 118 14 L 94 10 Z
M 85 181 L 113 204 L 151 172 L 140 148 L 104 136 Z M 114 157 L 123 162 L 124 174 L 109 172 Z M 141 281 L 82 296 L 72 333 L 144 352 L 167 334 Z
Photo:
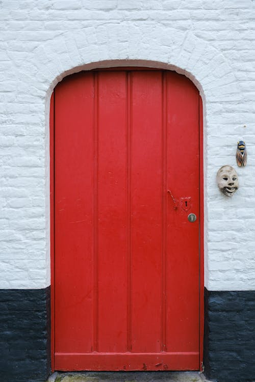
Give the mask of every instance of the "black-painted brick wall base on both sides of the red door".
M 0 290 L 0 381 L 45 382 L 50 373 L 50 288 Z M 255 291 L 205 289 L 208 379 L 255 380 Z

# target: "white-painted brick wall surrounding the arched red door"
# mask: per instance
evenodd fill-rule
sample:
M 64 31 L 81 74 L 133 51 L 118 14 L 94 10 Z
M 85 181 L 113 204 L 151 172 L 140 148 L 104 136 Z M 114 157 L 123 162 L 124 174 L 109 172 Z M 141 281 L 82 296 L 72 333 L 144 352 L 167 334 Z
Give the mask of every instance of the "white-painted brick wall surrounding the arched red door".
M 205 285 L 255 289 L 255 1 L 0 2 L 0 287 L 43 288 L 49 271 L 49 99 L 66 74 L 141 65 L 186 74 L 205 111 Z M 244 127 L 246 126 L 246 127 Z M 220 195 L 222 165 L 248 164 Z

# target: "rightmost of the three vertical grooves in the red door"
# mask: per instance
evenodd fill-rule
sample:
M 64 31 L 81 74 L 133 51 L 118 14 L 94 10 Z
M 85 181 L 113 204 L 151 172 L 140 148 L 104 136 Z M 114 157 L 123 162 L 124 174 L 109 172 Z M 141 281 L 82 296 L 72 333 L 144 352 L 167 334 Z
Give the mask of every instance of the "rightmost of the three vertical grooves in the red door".
M 162 316 L 161 316 L 161 351 L 167 351 L 166 343 L 166 254 L 167 254 L 167 77 L 162 72 Z

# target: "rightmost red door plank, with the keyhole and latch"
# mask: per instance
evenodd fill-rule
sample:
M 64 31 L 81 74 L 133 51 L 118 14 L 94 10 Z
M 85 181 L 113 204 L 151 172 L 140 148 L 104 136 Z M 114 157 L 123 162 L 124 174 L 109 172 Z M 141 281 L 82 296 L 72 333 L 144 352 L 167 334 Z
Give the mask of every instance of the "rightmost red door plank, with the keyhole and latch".
M 199 95 L 167 74 L 167 346 L 195 351 L 199 340 Z M 174 207 L 173 199 L 177 203 Z M 185 210 L 185 199 L 190 209 Z M 189 213 L 197 220 L 190 223 Z

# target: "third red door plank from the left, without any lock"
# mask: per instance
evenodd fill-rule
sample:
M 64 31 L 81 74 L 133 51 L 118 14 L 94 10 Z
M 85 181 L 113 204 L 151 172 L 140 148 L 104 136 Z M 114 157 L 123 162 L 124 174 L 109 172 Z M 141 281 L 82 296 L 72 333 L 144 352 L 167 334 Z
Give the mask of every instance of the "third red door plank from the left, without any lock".
M 132 74 L 132 351 L 160 351 L 162 74 Z M 149 335 L 148 335 L 149 331 Z

